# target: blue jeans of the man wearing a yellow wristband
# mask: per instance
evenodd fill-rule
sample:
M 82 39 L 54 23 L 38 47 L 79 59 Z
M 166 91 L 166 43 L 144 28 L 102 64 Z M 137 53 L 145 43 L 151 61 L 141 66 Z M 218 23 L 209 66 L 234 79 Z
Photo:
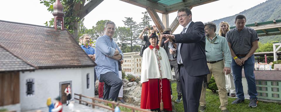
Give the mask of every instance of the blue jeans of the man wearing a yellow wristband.
M 238 57 L 239 59 L 243 57 Z M 256 90 L 256 80 L 254 75 L 255 57 L 252 55 L 244 62 L 242 66 L 239 66 L 232 58 L 232 71 L 234 76 L 234 85 L 236 95 L 238 99 L 244 100 L 244 92 L 242 86 L 242 68 L 244 67 L 245 77 L 248 83 L 248 93 L 251 99 L 257 99 L 258 92 Z

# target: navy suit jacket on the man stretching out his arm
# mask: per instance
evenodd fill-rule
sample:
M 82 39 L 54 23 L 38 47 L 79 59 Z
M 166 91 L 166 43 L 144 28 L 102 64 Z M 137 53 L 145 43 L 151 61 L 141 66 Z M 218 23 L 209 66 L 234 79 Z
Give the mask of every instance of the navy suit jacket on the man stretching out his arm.
M 173 41 L 177 43 L 177 49 L 178 43 L 182 43 L 181 59 L 189 76 L 210 74 L 206 61 L 204 28 L 203 22 L 191 22 L 186 33 L 174 35 Z

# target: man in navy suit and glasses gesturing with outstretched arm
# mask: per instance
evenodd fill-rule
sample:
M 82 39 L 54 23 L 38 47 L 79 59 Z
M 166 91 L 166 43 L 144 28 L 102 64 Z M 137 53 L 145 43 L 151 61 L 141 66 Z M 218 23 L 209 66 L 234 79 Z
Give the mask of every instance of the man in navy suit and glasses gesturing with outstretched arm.
M 184 27 L 180 34 L 168 35 L 168 41 L 177 43 L 177 49 L 170 49 L 176 55 L 185 112 L 197 112 L 204 75 L 210 74 L 205 55 L 204 24 L 192 22 L 191 11 L 178 10 L 177 19 Z

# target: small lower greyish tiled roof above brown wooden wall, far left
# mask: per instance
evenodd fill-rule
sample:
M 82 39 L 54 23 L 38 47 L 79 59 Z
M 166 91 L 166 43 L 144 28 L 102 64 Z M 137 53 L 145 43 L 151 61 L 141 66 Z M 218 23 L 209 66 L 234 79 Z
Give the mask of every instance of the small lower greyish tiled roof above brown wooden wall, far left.
M 34 70 L 35 67 L 9 53 L 0 46 L 0 72 L 1 71 L 23 71 Z

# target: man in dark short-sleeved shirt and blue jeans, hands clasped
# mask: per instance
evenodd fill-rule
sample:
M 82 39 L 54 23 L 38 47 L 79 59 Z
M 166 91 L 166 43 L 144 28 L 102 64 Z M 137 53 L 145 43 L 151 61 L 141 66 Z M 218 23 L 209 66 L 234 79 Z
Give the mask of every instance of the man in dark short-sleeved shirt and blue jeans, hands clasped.
M 225 36 L 233 57 L 231 66 L 237 99 L 232 104 L 241 103 L 245 99 L 242 86 L 243 68 L 250 95 L 249 107 L 256 107 L 258 104 L 258 92 L 254 74 L 254 53 L 258 49 L 258 34 L 254 29 L 245 27 L 246 17 L 244 15 L 237 15 L 234 23 L 236 27 L 228 31 Z

